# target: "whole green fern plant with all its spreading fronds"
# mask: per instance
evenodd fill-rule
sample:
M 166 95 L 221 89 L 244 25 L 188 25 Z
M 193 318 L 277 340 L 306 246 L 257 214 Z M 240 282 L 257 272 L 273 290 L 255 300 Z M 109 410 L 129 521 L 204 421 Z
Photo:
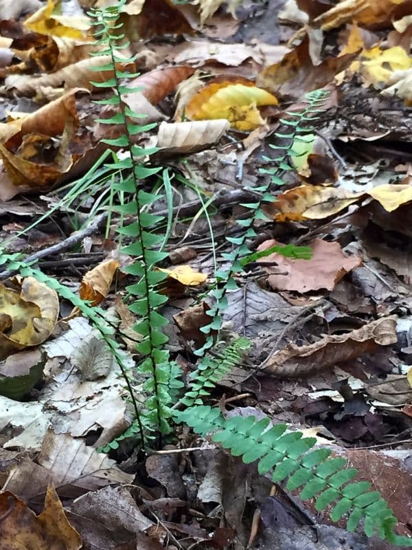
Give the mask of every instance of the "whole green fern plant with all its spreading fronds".
M 354 530 L 358 523 L 364 520 L 364 529 L 368 536 L 378 529 L 381 538 L 412 547 L 411 539 L 397 536 L 393 532 L 396 518 L 380 494 L 369 491 L 370 483 L 351 483 L 356 475 L 356 470 L 347 469 L 345 459 L 330 458 L 331 451 L 328 449 L 317 449 L 310 452 L 316 442 L 314 438 L 304 438 L 301 432 L 286 433 L 286 426 L 283 424 L 269 428 L 268 419 L 260 421 L 255 421 L 254 417 L 225 419 L 219 408 L 193 406 L 201 402 L 201 399 L 209 393 L 214 384 L 228 369 L 231 369 L 235 362 L 241 360 L 243 353 L 246 353 L 249 347 L 249 342 L 246 340 L 239 338 L 231 342 L 222 350 L 222 358 L 218 360 L 210 356 L 203 358 L 198 365 L 198 371 L 192 376 L 189 390 L 181 399 L 181 404 L 187 406 L 186 410 L 179 412 L 170 408 L 170 403 L 172 399 L 177 398 L 182 383 L 179 380 L 181 374 L 179 367 L 170 362 L 168 351 L 164 349 L 167 338 L 161 331 L 161 327 L 168 321 L 157 311 L 166 298 L 156 292 L 156 285 L 165 278 L 165 275 L 155 271 L 154 266 L 165 258 L 165 253 L 154 250 L 163 241 L 163 236 L 151 233 L 150 228 L 159 223 L 161 217 L 144 211 L 144 208 L 159 199 L 159 196 L 141 188 L 141 181 L 157 173 L 160 168 L 148 168 L 142 162 L 137 162 L 137 158 L 150 154 L 150 151 L 133 145 L 133 135 L 148 130 L 152 126 L 134 124 L 131 119 L 139 118 L 139 115 L 133 113 L 122 99 L 124 94 L 136 91 L 122 83 L 124 78 L 132 75 L 118 69 L 121 63 L 133 62 L 133 59 L 126 60 L 117 53 L 121 47 L 124 47 L 124 44 L 119 45 L 119 41 L 124 36 L 115 34 L 115 31 L 121 27 L 117 24 L 117 19 L 119 8 L 123 3 L 123 1 L 119 2 L 115 8 L 93 10 L 91 15 L 95 18 L 95 26 L 98 28 L 95 35 L 99 37 L 100 44 L 106 45 L 106 51 L 100 52 L 100 54 L 108 54 L 112 60 L 106 67 L 99 67 L 99 70 L 110 70 L 114 74 L 113 78 L 107 80 L 106 83 L 95 84 L 103 89 L 115 90 L 114 96 L 102 100 L 100 103 L 118 109 L 118 112 L 111 118 L 102 119 L 100 122 L 118 124 L 119 129 L 124 129 L 119 138 L 106 140 L 106 143 L 124 148 L 128 153 L 122 161 L 106 166 L 115 170 L 124 170 L 126 173 L 126 177 L 115 184 L 114 190 L 130 199 L 119 208 L 122 215 L 126 217 L 131 214 L 136 219 L 132 224 L 120 228 L 119 232 L 134 241 L 124 248 L 124 251 L 136 259 L 128 271 L 137 277 L 138 282 L 135 285 L 130 285 L 128 292 L 135 298 L 129 306 L 130 310 L 141 318 L 135 327 L 137 333 L 143 336 L 143 340 L 137 345 L 137 351 L 142 356 L 138 371 L 140 375 L 146 377 L 144 388 L 150 394 L 143 411 L 139 410 L 134 399 L 133 382 L 130 381 L 130 377 L 124 369 L 124 356 L 119 349 L 119 344 L 113 338 L 113 328 L 104 322 L 104 311 L 97 307 L 90 307 L 89 304 L 84 303 L 78 296 L 71 293 L 67 287 L 58 283 L 54 278 L 49 278 L 41 270 L 27 265 L 19 256 L 4 254 L 1 256 L 0 254 L 0 264 L 7 263 L 9 270 L 18 270 L 22 276 L 34 276 L 38 281 L 56 289 L 60 296 L 76 305 L 82 314 L 98 328 L 103 340 L 111 349 L 122 369 L 122 375 L 135 406 L 136 420 L 121 437 L 117 438 L 118 440 L 138 433 L 141 445 L 144 445 L 148 432 L 168 433 L 170 431 L 170 417 L 176 421 L 185 421 L 198 433 L 210 433 L 214 441 L 222 443 L 234 456 L 242 456 L 244 462 L 258 461 L 261 473 L 268 472 L 275 467 L 273 481 L 279 483 L 287 479 L 286 487 L 290 490 L 299 489 L 301 498 L 308 499 L 316 496 L 317 509 L 324 509 L 333 503 L 334 508 L 331 514 L 333 520 L 338 520 L 344 514 L 350 514 L 347 520 L 348 529 Z M 313 120 L 312 113 L 317 112 L 317 107 L 323 99 L 321 92 L 310 95 L 307 109 L 301 113 L 288 113 L 295 120 L 283 121 L 284 124 L 291 126 L 292 131 L 290 134 L 278 135 L 278 137 L 287 138 L 289 144 L 282 146 L 283 155 L 275 159 L 276 166 L 270 171 L 271 184 L 282 184 L 281 174 L 292 169 L 288 164 L 288 157 L 293 155 L 292 144 L 294 140 L 299 139 L 297 137 L 299 133 L 311 131 L 308 126 L 301 126 L 301 124 Z M 238 238 L 228 238 L 229 242 L 236 245 L 236 250 L 225 255 L 225 259 L 231 263 L 229 269 L 216 273 L 220 286 L 216 287 L 212 293 L 216 304 L 211 310 L 211 323 L 205 327 L 205 333 L 209 335 L 209 338 L 199 355 L 202 355 L 213 344 L 211 331 L 220 330 L 222 325 L 220 312 L 227 305 L 226 294 L 231 289 L 237 289 L 234 275 L 242 272 L 248 261 L 255 261 L 261 257 L 256 256 L 256 253 L 251 253 L 246 242 L 247 239 L 256 236 L 253 229 L 254 221 L 266 219 L 261 206 L 264 201 L 272 200 L 271 193 L 269 193 L 271 184 L 253 188 L 254 191 L 261 193 L 261 199 L 255 203 L 244 205 L 253 212 L 249 219 L 239 221 L 245 232 Z M 279 252 L 281 251 L 279 250 Z M 284 252 L 294 254 L 293 250 Z M 302 253 L 307 254 L 308 252 Z M 111 448 L 115 448 L 116 445 L 118 445 L 117 441 L 113 442 Z

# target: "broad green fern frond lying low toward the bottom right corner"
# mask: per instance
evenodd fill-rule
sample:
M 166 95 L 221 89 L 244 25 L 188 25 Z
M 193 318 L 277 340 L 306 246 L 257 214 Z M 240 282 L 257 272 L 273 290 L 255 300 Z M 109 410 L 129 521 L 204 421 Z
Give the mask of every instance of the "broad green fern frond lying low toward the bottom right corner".
M 258 461 L 258 471 L 271 475 L 274 483 L 286 481 L 286 489 L 299 489 L 300 498 L 315 498 L 315 508 L 321 511 L 333 505 L 330 517 L 338 521 L 345 514 L 347 529 L 354 531 L 363 520 L 367 536 L 375 530 L 382 539 L 412 547 L 412 539 L 393 532 L 397 519 L 377 491 L 369 490 L 371 483 L 352 483 L 357 475 L 348 468 L 346 459 L 330 457 L 327 448 L 311 450 L 316 439 L 302 437 L 301 432 L 287 432 L 286 424 L 270 425 L 270 419 L 235 416 L 225 419 L 218 407 L 192 406 L 176 412 L 177 421 L 192 426 L 194 431 L 229 449 L 233 456 L 242 456 L 244 463 Z

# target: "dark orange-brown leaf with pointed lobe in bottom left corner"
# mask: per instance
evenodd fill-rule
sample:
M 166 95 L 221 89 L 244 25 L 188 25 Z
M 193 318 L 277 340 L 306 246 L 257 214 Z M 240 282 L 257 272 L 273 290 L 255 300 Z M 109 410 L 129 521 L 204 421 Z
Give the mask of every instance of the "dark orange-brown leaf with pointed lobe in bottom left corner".
M 0 539 L 4 549 L 79 550 L 82 547 L 82 539 L 67 521 L 53 485 L 47 487 L 40 516 L 14 494 L 1 493 L 0 517 Z

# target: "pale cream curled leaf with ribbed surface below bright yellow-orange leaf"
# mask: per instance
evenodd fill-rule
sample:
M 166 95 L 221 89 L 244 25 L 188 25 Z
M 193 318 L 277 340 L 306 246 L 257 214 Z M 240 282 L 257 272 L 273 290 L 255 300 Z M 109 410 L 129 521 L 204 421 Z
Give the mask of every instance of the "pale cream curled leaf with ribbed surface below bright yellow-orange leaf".
M 157 146 L 168 153 L 196 153 L 220 140 L 229 130 L 224 119 L 196 120 L 194 122 L 162 122 L 157 134 Z

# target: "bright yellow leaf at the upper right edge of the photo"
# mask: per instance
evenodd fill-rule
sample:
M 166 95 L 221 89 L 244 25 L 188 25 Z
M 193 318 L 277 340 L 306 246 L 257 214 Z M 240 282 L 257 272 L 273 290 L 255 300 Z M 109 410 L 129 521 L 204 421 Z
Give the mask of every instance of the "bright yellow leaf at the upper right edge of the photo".
M 361 73 L 368 84 L 387 82 L 394 71 L 404 71 L 412 67 L 412 57 L 400 46 L 383 51 L 376 46 L 363 52 L 362 56 L 369 60 L 361 62 Z

